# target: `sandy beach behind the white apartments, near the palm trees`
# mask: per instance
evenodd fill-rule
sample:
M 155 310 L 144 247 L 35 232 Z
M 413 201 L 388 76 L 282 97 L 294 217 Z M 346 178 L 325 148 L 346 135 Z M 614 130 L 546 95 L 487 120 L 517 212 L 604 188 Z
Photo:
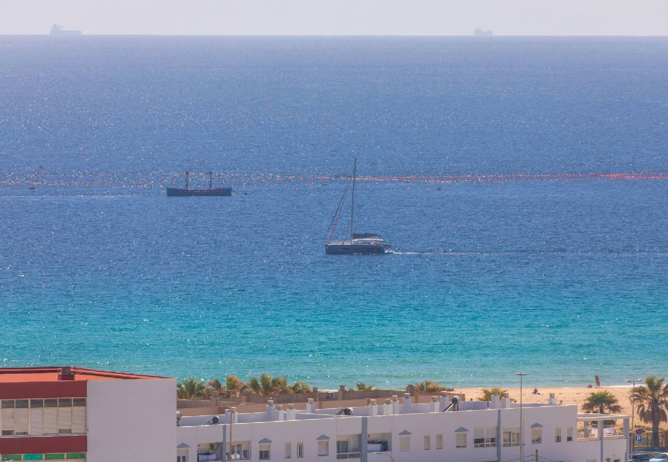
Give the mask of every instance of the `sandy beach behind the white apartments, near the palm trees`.
M 519 388 L 508 388 L 508 393 L 511 399 L 520 399 L 520 389 Z M 578 407 L 582 406 L 582 403 L 585 402 L 587 396 L 593 391 L 609 391 L 619 400 L 619 405 L 622 407 L 621 414 L 631 414 L 631 401 L 629 400 L 629 394 L 631 393 L 631 387 L 601 387 L 598 389 L 591 389 L 587 387 L 563 387 L 563 388 L 538 388 L 538 393 L 540 395 L 533 395 L 533 387 L 526 387 L 522 389 L 524 394 L 525 403 L 538 403 L 542 401 L 547 401 L 550 393 L 554 393 L 557 399 L 557 402 L 561 401 L 563 404 L 576 404 Z M 462 393 L 466 393 L 466 399 L 473 398 L 478 399 L 482 396 L 482 388 L 462 388 L 456 389 Z M 582 411 L 581 408 L 580 411 Z M 637 411 L 637 409 L 636 409 Z M 635 413 L 635 425 L 642 425 L 643 427 L 649 427 L 648 423 L 641 423 L 638 413 Z M 662 429 L 668 429 L 668 423 L 661 423 Z

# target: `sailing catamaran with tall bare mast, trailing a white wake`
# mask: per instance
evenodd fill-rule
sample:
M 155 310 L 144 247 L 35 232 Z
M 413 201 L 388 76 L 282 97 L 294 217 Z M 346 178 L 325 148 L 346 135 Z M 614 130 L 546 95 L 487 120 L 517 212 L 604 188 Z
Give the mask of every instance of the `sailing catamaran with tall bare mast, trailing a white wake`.
M 355 177 L 357 174 L 357 159 L 353 162 L 353 178 L 345 187 L 339 208 L 330 225 L 331 234 L 329 234 L 329 242 L 325 245 L 325 253 L 329 255 L 354 255 L 354 254 L 384 254 L 385 249 L 391 247 L 383 241 L 380 234 L 371 232 L 356 233 L 353 228 L 353 220 L 355 218 Z M 350 240 L 332 240 L 334 232 L 336 231 L 339 217 L 343 211 L 343 203 L 351 190 L 350 200 Z

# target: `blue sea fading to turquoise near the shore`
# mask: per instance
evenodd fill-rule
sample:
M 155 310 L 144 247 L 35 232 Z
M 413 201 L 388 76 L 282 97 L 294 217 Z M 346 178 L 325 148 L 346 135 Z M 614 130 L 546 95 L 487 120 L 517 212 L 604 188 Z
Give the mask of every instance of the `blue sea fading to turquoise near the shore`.
M 0 36 L 0 366 L 666 375 L 667 172 L 667 38 Z

